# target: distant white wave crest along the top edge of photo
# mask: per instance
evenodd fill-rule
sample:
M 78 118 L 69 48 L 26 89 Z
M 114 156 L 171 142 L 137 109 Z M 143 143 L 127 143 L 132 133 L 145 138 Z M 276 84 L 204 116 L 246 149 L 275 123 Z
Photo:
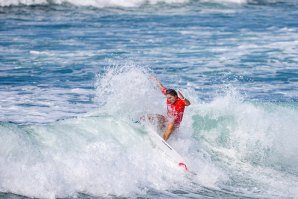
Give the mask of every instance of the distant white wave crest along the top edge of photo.
M 156 5 L 156 4 L 193 4 L 193 3 L 232 3 L 232 4 L 273 4 L 281 3 L 287 1 L 280 0 L 202 0 L 202 1 L 193 1 L 193 0 L 7 0 L 0 1 L 1 7 L 6 6 L 32 6 L 32 5 L 62 5 L 62 4 L 71 4 L 75 6 L 92 6 L 96 8 L 106 8 L 106 7 L 121 7 L 121 8 L 134 8 L 144 5 Z M 293 1 L 292 3 L 295 3 Z

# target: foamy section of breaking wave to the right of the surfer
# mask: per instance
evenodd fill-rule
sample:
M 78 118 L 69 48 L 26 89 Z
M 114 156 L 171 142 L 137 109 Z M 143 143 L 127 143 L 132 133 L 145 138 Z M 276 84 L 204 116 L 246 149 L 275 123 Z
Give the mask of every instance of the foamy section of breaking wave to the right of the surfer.
M 297 108 L 248 103 L 232 91 L 195 110 L 206 120 L 201 125 L 207 125 L 196 132 L 201 147 L 216 154 L 233 179 L 226 188 L 280 197 L 298 194 Z

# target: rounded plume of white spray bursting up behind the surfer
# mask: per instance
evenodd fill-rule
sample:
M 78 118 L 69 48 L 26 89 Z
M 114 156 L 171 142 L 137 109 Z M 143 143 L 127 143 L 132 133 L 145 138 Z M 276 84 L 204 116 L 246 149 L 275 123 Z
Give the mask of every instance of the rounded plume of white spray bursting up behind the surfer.
M 145 113 L 164 114 L 163 95 L 145 69 L 126 63 L 111 66 L 97 80 L 97 102 L 110 113 L 139 118 Z

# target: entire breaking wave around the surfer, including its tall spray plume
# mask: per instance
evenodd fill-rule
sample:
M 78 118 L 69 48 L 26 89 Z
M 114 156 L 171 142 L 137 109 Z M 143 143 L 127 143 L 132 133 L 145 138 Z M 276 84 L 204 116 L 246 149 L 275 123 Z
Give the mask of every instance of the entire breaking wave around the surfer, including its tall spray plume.
M 133 122 L 164 113 L 149 76 L 113 67 L 97 80 L 99 110 L 49 124 L 1 123 L 0 191 L 42 198 L 298 194 L 297 104 L 250 103 L 233 90 L 202 103 L 185 90 L 194 105 L 169 142 L 198 174 L 187 176 L 154 149 L 146 124 Z

